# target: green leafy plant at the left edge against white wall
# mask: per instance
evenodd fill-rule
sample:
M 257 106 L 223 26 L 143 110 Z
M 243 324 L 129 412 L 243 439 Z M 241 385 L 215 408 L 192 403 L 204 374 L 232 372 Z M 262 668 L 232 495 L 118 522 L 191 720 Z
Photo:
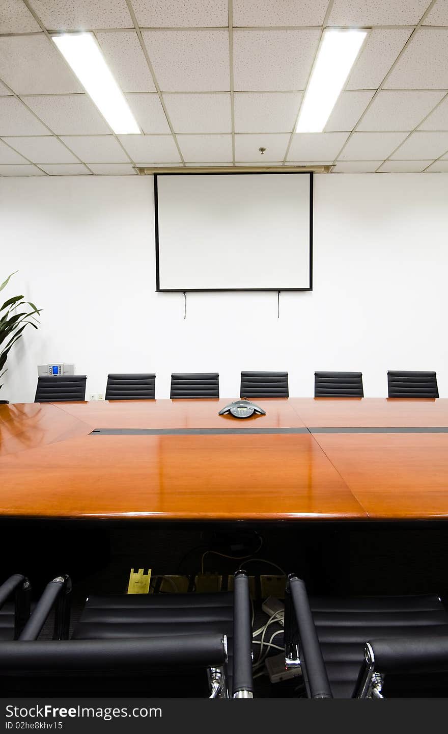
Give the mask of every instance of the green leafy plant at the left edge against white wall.
M 18 272 L 17 270 L 11 275 L 8 275 L 4 283 L 1 283 L 0 291 L 6 288 L 10 282 L 12 275 Z M 20 310 L 24 306 L 23 310 Z M 29 308 L 28 308 L 29 307 Z M 31 309 L 31 310 L 30 310 Z M 13 296 L 7 299 L 4 304 L 0 307 L 0 379 L 6 372 L 4 365 L 6 363 L 8 354 L 12 344 L 21 338 L 23 330 L 26 329 L 30 324 L 34 329 L 37 329 L 34 321 L 37 321 L 35 314 L 40 313 L 42 309 L 36 308 L 34 303 L 24 301 L 23 296 Z M 39 321 L 37 321 L 39 323 Z M 3 371 L 2 371 L 3 370 Z M 0 385 L 0 390 L 3 385 Z M 0 400 L 0 403 L 7 403 L 7 400 Z

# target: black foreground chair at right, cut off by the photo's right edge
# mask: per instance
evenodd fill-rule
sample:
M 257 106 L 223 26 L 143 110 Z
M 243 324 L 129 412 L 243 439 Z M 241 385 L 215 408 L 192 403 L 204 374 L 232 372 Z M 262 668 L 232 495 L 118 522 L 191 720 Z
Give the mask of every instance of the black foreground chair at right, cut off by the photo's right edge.
M 301 667 L 309 698 L 446 696 L 447 677 L 423 675 L 448 672 L 448 614 L 436 595 L 309 598 L 290 575 L 284 638 L 286 666 Z

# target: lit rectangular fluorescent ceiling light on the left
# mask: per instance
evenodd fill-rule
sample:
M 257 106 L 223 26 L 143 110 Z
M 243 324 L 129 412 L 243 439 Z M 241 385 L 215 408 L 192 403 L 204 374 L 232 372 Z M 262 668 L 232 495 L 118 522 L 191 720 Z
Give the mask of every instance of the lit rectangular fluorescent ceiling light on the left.
M 53 40 L 114 133 L 139 134 L 140 128 L 125 95 L 112 76 L 93 34 L 63 33 L 53 36 Z

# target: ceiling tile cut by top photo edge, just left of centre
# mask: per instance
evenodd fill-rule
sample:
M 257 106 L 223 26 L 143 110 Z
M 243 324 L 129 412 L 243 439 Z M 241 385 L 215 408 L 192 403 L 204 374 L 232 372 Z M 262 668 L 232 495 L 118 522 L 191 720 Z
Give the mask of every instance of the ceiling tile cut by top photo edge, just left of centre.
M 226 0 L 132 0 L 139 26 L 144 28 L 194 28 L 227 26 Z

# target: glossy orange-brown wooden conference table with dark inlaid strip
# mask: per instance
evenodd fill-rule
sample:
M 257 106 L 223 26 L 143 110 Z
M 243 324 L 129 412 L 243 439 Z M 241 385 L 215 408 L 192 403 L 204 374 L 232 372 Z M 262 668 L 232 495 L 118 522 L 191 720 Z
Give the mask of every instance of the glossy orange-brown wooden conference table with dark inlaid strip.
M 448 399 L 0 405 L 0 517 L 448 517 Z

